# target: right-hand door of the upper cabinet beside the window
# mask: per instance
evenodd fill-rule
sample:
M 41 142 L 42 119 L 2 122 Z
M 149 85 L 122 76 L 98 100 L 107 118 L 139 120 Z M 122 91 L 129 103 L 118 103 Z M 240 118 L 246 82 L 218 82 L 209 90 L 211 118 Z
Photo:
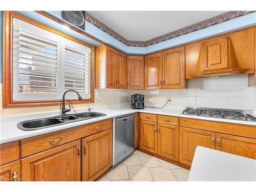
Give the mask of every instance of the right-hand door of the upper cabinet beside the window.
M 118 52 L 118 89 L 127 88 L 127 62 L 126 55 Z

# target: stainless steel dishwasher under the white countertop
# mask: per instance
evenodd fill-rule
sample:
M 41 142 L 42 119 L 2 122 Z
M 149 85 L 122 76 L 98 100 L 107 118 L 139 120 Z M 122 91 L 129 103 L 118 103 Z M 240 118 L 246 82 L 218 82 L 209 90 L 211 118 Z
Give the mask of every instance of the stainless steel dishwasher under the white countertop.
M 113 118 L 113 165 L 134 151 L 134 114 Z

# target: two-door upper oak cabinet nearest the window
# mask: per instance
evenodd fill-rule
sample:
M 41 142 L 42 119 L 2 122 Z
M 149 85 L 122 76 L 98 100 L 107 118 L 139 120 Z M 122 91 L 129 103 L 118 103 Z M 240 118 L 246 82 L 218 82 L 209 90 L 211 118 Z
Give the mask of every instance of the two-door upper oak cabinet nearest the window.
M 126 55 L 109 46 L 96 49 L 96 89 L 126 89 Z

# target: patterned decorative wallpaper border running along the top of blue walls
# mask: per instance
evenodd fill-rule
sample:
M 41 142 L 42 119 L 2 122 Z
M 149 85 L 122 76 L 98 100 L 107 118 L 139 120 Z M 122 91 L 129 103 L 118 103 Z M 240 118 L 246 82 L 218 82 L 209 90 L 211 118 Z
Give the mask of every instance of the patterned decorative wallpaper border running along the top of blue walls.
M 88 22 L 90 22 L 91 24 L 93 24 L 94 26 L 101 29 L 102 31 L 110 34 L 117 40 L 121 41 L 126 46 L 146 47 L 146 46 L 157 44 L 158 42 L 162 42 L 164 40 L 168 40 L 171 38 L 175 38 L 175 37 L 184 35 L 186 33 L 191 33 L 193 31 L 197 31 L 197 30 L 200 30 L 200 29 L 203 29 L 206 27 L 220 24 L 222 22 L 225 22 L 226 20 L 234 19 L 239 16 L 249 14 L 251 12 L 254 12 L 254 11 L 229 11 L 229 12 L 217 15 L 215 17 L 203 20 L 202 22 L 184 27 L 182 29 L 178 29 L 178 30 L 170 32 L 170 33 L 166 33 L 164 35 L 161 35 L 161 36 L 158 36 L 158 37 L 152 38 L 150 40 L 146 40 L 146 41 L 127 40 L 126 38 L 124 38 L 123 36 L 121 36 L 120 34 L 115 32 L 114 30 L 112 30 L 111 28 L 109 28 L 108 26 L 106 26 L 105 24 L 100 22 L 97 18 L 95 18 L 94 16 L 90 15 L 87 12 L 86 12 L 86 20 Z

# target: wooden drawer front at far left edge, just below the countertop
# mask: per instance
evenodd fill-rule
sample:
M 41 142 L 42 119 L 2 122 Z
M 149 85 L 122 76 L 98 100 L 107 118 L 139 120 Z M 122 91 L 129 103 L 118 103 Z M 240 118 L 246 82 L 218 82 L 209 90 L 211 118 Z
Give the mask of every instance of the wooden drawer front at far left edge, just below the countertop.
M 0 145 L 0 165 L 19 159 L 19 141 Z

